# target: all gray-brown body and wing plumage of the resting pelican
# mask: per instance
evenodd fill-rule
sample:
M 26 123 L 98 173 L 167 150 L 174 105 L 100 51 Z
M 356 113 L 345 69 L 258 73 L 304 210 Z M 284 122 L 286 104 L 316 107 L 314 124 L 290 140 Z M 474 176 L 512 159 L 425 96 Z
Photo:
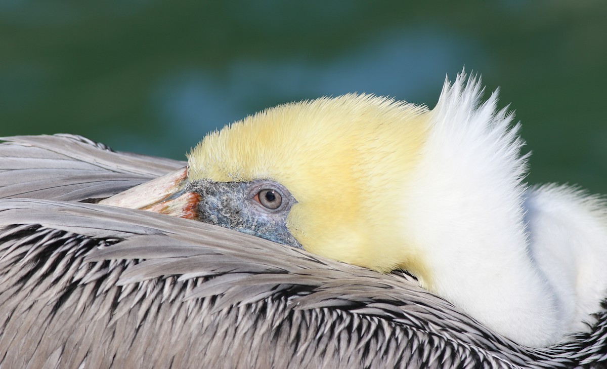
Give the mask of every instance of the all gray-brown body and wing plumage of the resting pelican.
M 419 288 L 211 225 L 79 203 L 185 163 L 84 138 L 0 144 L 0 369 L 601 367 L 532 350 Z M 10 197 L 10 198 L 7 198 Z

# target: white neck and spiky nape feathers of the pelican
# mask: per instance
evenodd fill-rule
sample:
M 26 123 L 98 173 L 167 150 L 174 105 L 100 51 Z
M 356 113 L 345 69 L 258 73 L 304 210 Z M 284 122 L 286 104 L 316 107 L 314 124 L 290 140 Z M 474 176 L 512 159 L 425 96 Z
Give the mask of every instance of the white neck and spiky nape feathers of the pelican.
M 425 252 L 422 284 L 521 344 L 544 347 L 587 329 L 607 287 L 607 218 L 594 197 L 527 189 L 518 124 L 480 104 L 459 75 L 432 110 L 402 201 L 405 237 Z

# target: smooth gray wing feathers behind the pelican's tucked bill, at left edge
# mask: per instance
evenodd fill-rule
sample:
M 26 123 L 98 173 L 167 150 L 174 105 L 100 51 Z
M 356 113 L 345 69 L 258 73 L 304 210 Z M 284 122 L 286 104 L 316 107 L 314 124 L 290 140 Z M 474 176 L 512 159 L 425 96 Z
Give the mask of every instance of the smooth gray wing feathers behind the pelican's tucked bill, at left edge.
M 114 152 L 77 135 L 3 137 L 0 198 L 81 201 L 124 191 L 184 161 Z

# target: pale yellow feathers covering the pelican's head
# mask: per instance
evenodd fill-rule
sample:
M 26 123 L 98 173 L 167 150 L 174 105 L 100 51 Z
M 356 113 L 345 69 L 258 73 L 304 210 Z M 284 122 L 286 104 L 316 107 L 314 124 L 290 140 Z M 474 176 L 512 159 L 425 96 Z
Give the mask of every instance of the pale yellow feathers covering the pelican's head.
M 273 107 L 207 135 L 188 155 L 188 178 L 277 181 L 297 200 L 287 227 L 308 251 L 416 273 L 421 256 L 395 229 L 428 116 L 355 94 Z

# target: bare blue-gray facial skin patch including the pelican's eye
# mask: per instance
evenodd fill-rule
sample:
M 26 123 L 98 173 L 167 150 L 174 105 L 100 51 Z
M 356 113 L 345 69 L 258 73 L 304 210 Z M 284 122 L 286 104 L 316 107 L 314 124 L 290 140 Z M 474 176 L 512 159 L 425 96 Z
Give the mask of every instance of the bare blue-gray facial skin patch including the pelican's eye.
M 185 191 L 200 195 L 196 218 L 200 222 L 303 249 L 287 229 L 287 215 L 297 201 L 275 181 L 199 180 L 189 183 Z

